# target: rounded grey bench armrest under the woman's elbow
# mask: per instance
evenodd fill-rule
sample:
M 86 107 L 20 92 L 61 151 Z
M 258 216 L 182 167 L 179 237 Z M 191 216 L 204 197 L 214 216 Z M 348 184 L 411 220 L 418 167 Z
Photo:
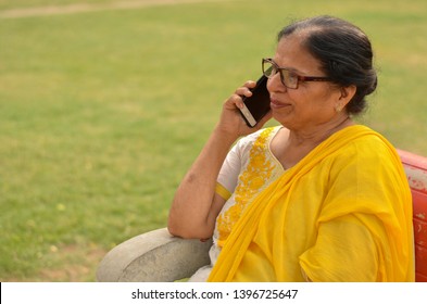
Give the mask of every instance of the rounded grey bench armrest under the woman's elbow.
M 173 237 L 166 228 L 131 238 L 113 248 L 97 270 L 100 282 L 167 282 L 189 278 L 210 263 L 212 240 Z

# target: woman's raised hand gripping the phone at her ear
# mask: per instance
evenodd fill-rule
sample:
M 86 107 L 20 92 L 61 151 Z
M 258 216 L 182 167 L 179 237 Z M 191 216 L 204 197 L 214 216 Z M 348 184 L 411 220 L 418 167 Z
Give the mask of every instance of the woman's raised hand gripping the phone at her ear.
M 242 97 L 251 97 L 251 89 L 253 89 L 255 86 L 255 81 L 247 81 L 224 102 L 223 112 L 216 126 L 217 130 L 237 139 L 241 136 L 246 136 L 261 129 L 264 124 L 272 118 L 272 112 L 268 112 L 261 119 L 261 122 L 256 124 L 255 127 L 251 128 L 246 124 L 243 117 L 241 116 L 239 109 L 242 109 L 244 106 Z

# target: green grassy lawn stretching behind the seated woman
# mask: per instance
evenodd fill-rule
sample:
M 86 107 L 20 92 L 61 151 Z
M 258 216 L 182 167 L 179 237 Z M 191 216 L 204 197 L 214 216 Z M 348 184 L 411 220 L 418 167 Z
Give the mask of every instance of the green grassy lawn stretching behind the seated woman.
M 0 0 L 15 8 L 113 0 Z M 0 17 L 0 280 L 93 281 L 113 245 L 163 227 L 222 102 L 291 18 L 372 38 L 379 89 L 361 121 L 427 155 L 427 2 L 221 1 Z

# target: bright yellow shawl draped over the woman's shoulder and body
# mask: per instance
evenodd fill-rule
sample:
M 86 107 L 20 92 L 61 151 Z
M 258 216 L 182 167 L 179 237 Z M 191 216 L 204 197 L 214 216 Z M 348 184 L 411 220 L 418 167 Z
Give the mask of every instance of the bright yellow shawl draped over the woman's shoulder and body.
M 347 127 L 249 204 L 209 281 L 414 281 L 412 199 L 379 134 Z

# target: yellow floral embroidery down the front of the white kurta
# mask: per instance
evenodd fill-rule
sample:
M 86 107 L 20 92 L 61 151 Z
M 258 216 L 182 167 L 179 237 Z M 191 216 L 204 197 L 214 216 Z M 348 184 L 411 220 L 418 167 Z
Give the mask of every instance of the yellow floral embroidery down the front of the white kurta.
M 266 157 L 269 135 L 274 128 L 263 130 L 256 138 L 249 152 L 249 164 L 239 176 L 236 188 L 235 204 L 217 218 L 218 240 L 217 245 L 223 246 L 233 226 L 240 218 L 247 205 L 262 190 L 265 182 L 271 178 L 274 164 Z

